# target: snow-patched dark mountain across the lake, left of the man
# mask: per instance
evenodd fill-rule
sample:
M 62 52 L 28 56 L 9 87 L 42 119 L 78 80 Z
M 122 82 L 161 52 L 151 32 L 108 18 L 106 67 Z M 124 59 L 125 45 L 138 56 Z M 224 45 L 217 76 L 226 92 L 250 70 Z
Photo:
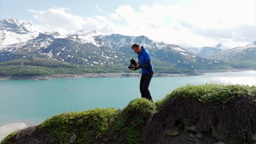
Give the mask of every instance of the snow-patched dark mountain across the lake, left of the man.
M 94 32 L 92 32 L 94 33 Z M 0 62 L 15 59 L 40 57 L 72 62 L 84 65 L 112 64 L 129 61 L 130 56 L 115 52 L 109 47 L 99 47 L 93 37 L 85 43 L 84 39 L 55 38 L 53 35 L 40 33 L 38 37 L 26 42 L 2 46 Z M 79 37 L 80 35 L 76 35 Z M 85 35 L 82 35 L 84 37 Z

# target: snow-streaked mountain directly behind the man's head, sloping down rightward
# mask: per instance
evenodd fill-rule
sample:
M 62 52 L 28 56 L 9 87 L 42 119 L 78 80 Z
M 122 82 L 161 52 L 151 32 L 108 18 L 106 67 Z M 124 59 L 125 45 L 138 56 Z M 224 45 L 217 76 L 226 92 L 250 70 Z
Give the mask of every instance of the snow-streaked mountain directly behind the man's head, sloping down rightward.
M 219 63 L 218 61 L 198 57 L 183 49 L 181 46 L 154 41 L 144 35 L 131 37 L 120 34 L 111 34 L 106 36 L 101 35 L 98 39 L 102 39 L 103 43 L 112 47 L 113 50 L 127 53 L 134 57 L 136 57 L 136 55 L 131 51 L 131 45 L 133 43 L 141 44 L 150 51 L 152 57 L 156 60 L 174 63 L 177 67 L 182 68 L 197 69 L 201 64 Z

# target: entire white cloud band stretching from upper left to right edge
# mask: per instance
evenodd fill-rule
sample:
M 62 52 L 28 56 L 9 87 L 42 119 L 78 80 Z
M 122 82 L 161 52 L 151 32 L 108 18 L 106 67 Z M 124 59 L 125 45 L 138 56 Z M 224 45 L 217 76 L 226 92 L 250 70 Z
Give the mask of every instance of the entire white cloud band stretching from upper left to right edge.
M 100 31 L 124 35 L 146 35 L 168 44 L 229 47 L 255 40 L 255 0 L 198 0 L 187 5 L 120 5 L 110 13 L 82 19 L 68 8 L 29 10 L 44 26 L 57 31 Z M 137 8 L 139 8 L 137 10 Z M 96 4 L 97 11 L 102 12 Z

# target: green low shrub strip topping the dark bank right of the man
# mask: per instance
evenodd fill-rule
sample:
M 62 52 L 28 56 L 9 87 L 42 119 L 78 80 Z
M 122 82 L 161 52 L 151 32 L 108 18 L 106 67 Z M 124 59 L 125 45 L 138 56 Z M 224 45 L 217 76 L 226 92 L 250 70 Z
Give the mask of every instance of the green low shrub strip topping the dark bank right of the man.
M 167 94 L 162 100 L 156 101 L 157 110 L 161 109 L 162 105 L 171 97 L 193 98 L 195 101 L 202 103 L 209 103 L 211 101 L 218 101 L 225 104 L 227 101 L 236 99 L 237 97 L 256 96 L 255 86 L 245 85 L 187 85 L 174 89 Z

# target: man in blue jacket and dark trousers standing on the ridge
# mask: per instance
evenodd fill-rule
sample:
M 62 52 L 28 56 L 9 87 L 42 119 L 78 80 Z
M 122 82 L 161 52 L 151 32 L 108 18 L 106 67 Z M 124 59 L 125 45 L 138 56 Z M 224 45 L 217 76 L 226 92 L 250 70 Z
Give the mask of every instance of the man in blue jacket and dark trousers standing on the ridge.
M 142 69 L 141 82 L 139 83 L 139 90 L 141 91 L 141 97 L 147 98 L 152 101 L 151 94 L 149 92 L 149 83 L 152 79 L 154 69 L 152 65 L 152 60 L 150 58 L 149 52 L 144 49 L 144 47 L 140 47 L 139 44 L 133 44 L 132 50 L 138 54 L 138 63 L 135 68 L 130 68 L 130 70 Z

